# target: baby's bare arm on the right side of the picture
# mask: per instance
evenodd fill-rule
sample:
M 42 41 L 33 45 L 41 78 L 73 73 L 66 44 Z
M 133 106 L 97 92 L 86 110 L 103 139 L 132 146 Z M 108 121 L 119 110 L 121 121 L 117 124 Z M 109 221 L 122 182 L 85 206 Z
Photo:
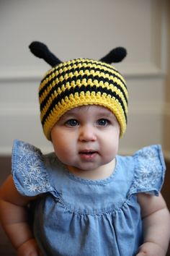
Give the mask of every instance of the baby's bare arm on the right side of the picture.
M 164 198 L 138 195 L 142 211 L 144 241 L 137 256 L 165 256 L 169 246 L 170 217 Z

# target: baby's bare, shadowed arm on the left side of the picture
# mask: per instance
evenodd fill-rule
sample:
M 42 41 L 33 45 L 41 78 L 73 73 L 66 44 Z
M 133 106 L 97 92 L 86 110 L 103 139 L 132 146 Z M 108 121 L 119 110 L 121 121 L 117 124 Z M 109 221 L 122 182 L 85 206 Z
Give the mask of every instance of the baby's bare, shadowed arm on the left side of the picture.
M 12 175 L 0 189 L 0 221 L 17 249 L 17 256 L 34 255 L 39 256 L 34 236 L 28 224 L 27 203 L 35 197 L 23 197 L 17 192 Z

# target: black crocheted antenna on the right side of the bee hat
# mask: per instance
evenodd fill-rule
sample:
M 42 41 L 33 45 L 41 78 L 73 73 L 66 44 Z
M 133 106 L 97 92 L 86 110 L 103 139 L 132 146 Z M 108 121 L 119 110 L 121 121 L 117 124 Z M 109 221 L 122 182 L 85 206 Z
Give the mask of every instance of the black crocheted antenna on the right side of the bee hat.
M 103 61 L 107 64 L 111 64 L 114 62 L 120 62 L 127 55 L 127 51 L 123 47 L 117 47 L 112 49 L 106 56 L 104 56 L 100 61 Z

